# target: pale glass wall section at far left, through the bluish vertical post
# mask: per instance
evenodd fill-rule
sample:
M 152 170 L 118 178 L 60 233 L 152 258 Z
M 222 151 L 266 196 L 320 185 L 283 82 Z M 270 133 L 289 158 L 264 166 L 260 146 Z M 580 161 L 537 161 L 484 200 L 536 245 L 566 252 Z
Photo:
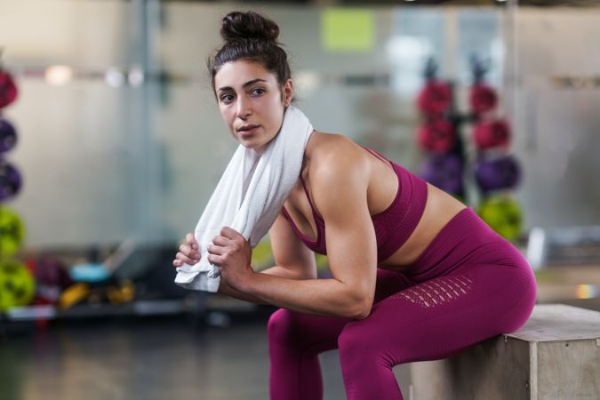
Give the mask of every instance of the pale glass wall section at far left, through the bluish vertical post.
M 3 109 L 23 175 L 7 205 L 29 247 L 156 240 L 157 141 L 142 7 L 121 1 L 5 1 L 4 67 L 20 89 Z

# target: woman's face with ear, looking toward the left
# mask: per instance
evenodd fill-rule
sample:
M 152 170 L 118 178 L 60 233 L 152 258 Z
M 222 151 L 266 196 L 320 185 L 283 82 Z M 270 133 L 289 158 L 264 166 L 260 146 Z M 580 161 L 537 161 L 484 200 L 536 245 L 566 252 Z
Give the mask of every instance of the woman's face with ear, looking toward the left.
M 292 100 L 292 80 L 284 84 L 282 93 L 275 74 L 257 62 L 236 60 L 220 68 L 214 88 L 229 131 L 245 148 L 261 155 L 284 121 L 284 108 Z

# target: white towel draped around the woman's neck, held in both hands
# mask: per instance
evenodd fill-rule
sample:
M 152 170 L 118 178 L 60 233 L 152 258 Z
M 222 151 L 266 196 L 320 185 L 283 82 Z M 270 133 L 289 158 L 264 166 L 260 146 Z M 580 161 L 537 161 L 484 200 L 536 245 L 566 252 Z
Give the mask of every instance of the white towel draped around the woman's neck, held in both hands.
M 224 226 L 235 229 L 252 249 L 271 228 L 285 199 L 292 192 L 302 166 L 304 150 L 313 127 L 300 109 L 289 106 L 275 139 L 262 156 L 240 145 L 195 230 L 200 262 L 177 268 L 175 283 L 187 289 L 217 292 L 220 269 L 208 261 L 207 248 Z

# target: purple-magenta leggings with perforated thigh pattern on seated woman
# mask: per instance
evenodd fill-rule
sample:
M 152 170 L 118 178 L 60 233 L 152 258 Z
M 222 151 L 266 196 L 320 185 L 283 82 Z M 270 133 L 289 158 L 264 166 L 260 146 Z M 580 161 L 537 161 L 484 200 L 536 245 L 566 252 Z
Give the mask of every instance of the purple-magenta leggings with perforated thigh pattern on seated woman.
M 348 399 L 402 399 L 394 365 L 452 356 L 514 332 L 531 315 L 535 298 L 527 260 L 468 207 L 403 273 L 378 268 L 367 318 L 284 308 L 273 313 L 270 398 L 322 399 L 318 354 L 338 348 Z

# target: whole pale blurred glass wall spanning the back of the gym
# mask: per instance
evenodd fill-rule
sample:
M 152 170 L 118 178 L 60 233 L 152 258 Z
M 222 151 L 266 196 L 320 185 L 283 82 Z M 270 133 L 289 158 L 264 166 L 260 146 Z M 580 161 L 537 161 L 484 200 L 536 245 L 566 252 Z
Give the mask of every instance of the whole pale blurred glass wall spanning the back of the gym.
M 600 94 L 559 79 L 596 74 L 596 9 L 239 6 L 280 25 L 297 106 L 316 129 L 347 135 L 413 171 L 423 156 L 414 100 L 428 58 L 455 83 L 461 108 L 469 58 L 489 60 L 488 82 L 513 119 L 524 165 L 517 195 L 525 228 L 600 222 L 600 186 L 586 183 L 600 172 Z M 3 116 L 18 128 L 10 158 L 25 182 L 8 205 L 26 220 L 29 246 L 170 243 L 193 230 L 236 148 L 205 68 L 220 45 L 220 18 L 235 8 L 2 2 L 4 66 L 20 86 Z M 336 18 L 359 21 L 354 47 L 330 32 Z M 52 66 L 68 66 L 70 78 L 61 83 L 69 72 L 52 77 Z

